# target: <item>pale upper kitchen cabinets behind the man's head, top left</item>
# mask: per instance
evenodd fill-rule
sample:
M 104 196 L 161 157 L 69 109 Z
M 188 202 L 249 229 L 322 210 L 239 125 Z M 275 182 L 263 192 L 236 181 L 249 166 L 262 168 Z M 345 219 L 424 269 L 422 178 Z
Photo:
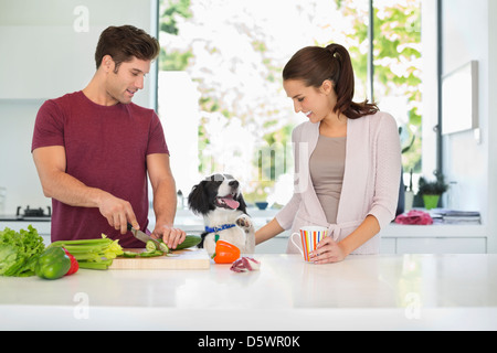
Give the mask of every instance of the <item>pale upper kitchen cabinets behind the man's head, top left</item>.
M 7 51 L 0 77 L 9 84 L 0 86 L 0 99 L 47 99 L 84 88 L 95 74 L 102 31 L 134 24 L 155 35 L 156 10 L 155 0 L 2 2 L 8 15 L 0 25 L 0 46 Z M 148 81 L 135 103 L 154 107 L 155 85 Z

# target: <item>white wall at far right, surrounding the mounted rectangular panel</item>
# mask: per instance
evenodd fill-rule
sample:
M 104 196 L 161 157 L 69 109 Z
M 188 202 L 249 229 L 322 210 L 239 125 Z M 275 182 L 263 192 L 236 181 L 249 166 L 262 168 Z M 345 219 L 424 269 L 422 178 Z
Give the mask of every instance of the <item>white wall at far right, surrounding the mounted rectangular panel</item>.
M 489 229 L 489 250 L 496 252 L 496 147 L 494 0 L 443 1 L 443 73 L 447 74 L 472 60 L 478 61 L 478 111 L 480 139 L 475 131 L 444 136 L 444 173 L 458 183 L 462 210 L 478 210 Z M 491 33 L 494 31 L 494 33 Z M 457 104 L 456 101 L 454 104 Z M 490 110 L 493 111 L 490 114 Z

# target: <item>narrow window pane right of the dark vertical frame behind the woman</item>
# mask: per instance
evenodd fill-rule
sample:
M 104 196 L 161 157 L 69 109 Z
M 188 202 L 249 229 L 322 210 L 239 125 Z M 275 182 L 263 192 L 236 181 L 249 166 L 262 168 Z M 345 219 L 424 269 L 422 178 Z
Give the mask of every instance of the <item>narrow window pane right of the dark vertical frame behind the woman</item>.
M 404 170 L 421 171 L 421 0 L 374 0 L 373 94 L 398 120 Z

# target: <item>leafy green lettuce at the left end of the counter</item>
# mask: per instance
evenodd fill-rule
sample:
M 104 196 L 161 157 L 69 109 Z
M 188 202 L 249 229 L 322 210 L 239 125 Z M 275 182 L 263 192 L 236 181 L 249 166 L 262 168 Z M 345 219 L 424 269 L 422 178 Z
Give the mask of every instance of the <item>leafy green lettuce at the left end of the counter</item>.
M 45 249 L 43 237 L 31 225 L 28 231 L 0 231 L 0 276 L 28 277 Z

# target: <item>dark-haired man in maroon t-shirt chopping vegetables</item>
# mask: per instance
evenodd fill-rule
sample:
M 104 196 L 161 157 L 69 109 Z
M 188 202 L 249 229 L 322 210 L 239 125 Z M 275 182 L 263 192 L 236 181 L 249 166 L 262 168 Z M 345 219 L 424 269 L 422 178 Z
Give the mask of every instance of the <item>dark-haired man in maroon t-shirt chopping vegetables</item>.
M 109 26 L 101 34 L 89 84 L 40 108 L 32 154 L 43 193 L 52 197 L 52 242 L 105 234 L 123 247 L 142 247 L 127 224 L 147 229 L 147 173 L 152 236 L 171 248 L 184 240 L 173 227 L 176 184 L 160 120 L 131 103 L 159 51 L 142 30 Z

